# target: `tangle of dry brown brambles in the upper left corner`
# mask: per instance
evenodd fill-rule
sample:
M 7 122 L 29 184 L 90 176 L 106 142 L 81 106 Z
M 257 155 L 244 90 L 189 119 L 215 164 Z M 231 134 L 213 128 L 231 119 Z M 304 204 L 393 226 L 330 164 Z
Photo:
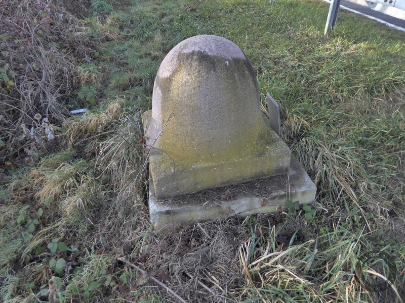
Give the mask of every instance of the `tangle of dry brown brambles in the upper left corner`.
M 116 39 L 118 33 L 96 20 L 84 25 L 84 35 L 75 34 L 82 23 L 79 18 L 87 12 L 74 0 L 49 6 L 45 2 L 5 0 L 2 7 L 7 9 L 0 12 L 0 136 L 6 148 L 0 151 L 0 160 L 19 162 L 24 154 L 27 156 L 23 149 L 30 140 L 21 136 L 21 125 L 28 130 L 35 128 L 35 114 L 41 114 L 48 123 L 60 124 L 70 116 L 66 105 L 78 85 L 100 82 L 100 74 L 83 70 L 79 63 L 83 58 L 97 60 L 98 46 L 87 33 L 97 30 L 102 39 Z M 72 81 L 77 77 L 79 81 Z M 28 143 L 35 145 L 34 141 Z M 35 147 L 42 156 L 50 149 Z

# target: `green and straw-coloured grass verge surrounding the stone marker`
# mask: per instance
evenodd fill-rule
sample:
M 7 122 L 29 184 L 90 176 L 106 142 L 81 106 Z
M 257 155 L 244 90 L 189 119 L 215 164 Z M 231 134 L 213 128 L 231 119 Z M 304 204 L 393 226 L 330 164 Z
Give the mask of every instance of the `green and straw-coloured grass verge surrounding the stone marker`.
M 328 9 L 315 0 L 157 0 L 89 19 L 104 37 L 100 58 L 76 81 L 97 85 L 97 105 L 57 130 L 58 153 L 7 168 L 0 184 L 3 301 L 48 301 L 53 281 L 67 301 L 175 300 L 122 255 L 154 277 L 167 274 L 164 283 L 189 302 L 405 298 L 405 33 L 341 11 L 323 36 Z M 282 138 L 317 185 L 314 219 L 298 211 L 154 232 L 140 115 L 160 62 L 198 34 L 236 43 L 263 106 L 267 92 L 279 102 Z M 19 216 L 38 217 L 35 231 Z M 277 240 L 299 229 L 302 242 Z M 55 238 L 69 249 L 50 251 Z M 369 293 L 355 279 L 357 258 L 377 248 L 395 259 L 396 290 Z

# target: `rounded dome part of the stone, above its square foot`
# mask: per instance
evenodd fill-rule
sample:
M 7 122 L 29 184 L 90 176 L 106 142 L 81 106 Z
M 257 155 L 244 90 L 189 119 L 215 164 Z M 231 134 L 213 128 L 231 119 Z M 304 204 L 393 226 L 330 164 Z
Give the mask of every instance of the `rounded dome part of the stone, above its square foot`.
M 219 155 L 226 148 L 218 142 L 236 147 L 244 137 L 252 145 L 267 132 L 251 63 L 235 43 L 213 35 L 188 38 L 165 57 L 153 86 L 151 118 L 146 136 L 174 158 L 187 150 L 201 158 L 208 149 Z

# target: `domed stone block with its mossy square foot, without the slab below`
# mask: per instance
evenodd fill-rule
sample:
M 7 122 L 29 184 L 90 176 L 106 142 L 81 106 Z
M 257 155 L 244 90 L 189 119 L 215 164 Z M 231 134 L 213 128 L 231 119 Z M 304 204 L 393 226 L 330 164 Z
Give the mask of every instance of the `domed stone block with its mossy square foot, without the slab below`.
M 146 116 L 157 199 L 289 169 L 289 148 L 262 118 L 252 65 L 225 38 L 176 45 L 157 72 Z

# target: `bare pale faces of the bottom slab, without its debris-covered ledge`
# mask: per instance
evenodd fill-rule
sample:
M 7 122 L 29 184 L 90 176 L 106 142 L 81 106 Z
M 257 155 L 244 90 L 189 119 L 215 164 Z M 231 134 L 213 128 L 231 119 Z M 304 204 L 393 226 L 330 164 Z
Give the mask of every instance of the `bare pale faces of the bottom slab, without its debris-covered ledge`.
M 257 213 L 275 212 L 279 206 L 285 209 L 288 199 L 299 201 L 300 204 L 313 202 L 316 186 L 293 154 L 291 154 L 288 179 L 290 179 L 289 190 L 287 184 L 279 185 L 274 183 L 272 184 L 274 189 L 267 197 L 252 195 L 232 201 L 211 201 L 208 203 L 194 201 L 188 204 L 159 203 L 154 196 L 153 182 L 149 180 L 150 221 L 156 231 L 160 233 L 179 229 L 183 225 L 216 218 L 247 217 Z M 265 200 L 265 203 L 263 203 L 263 200 Z M 265 205 L 263 206 L 263 204 Z

